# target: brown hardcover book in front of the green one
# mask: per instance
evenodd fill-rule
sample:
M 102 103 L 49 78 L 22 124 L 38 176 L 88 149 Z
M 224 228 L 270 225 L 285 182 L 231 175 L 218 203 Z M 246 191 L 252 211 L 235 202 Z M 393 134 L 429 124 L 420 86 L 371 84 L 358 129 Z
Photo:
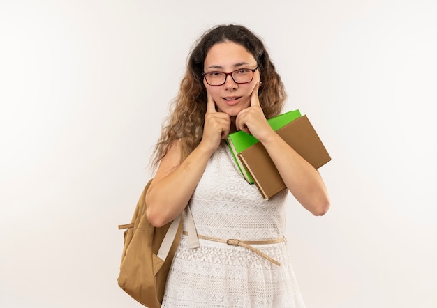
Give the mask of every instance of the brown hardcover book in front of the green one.
M 307 162 L 318 169 L 331 160 L 325 146 L 306 116 L 301 116 L 276 131 Z M 268 200 L 286 189 L 278 169 L 260 142 L 238 154 L 253 182 Z

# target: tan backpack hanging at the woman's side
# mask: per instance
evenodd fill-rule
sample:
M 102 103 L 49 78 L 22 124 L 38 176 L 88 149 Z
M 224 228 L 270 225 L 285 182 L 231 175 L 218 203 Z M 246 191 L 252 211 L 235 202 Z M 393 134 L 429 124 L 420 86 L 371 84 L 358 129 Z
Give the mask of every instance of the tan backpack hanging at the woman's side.
M 146 192 L 150 183 L 151 180 L 142 191 L 131 224 L 119 225 L 119 229 L 126 231 L 117 281 L 128 295 L 142 305 L 159 308 L 181 238 L 182 214 L 165 226 L 152 226 L 146 217 Z

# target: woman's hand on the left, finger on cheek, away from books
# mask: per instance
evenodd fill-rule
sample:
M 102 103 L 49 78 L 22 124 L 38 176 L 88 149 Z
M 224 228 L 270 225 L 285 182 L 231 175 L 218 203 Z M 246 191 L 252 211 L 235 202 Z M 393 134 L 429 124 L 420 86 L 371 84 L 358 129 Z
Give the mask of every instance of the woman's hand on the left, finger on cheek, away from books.
M 221 140 L 226 139 L 230 132 L 230 116 L 216 111 L 216 103 L 207 93 L 207 112 L 201 143 L 212 151 L 216 151 Z

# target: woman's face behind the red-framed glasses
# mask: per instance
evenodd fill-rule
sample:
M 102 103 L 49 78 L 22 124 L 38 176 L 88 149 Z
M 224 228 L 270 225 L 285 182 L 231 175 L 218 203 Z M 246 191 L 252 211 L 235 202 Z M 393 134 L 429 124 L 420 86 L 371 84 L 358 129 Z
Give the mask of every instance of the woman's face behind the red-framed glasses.
M 256 67 L 255 58 L 246 48 L 233 42 L 225 42 L 213 45 L 209 49 L 203 71 L 205 73 L 233 72 L 242 68 L 252 70 Z M 203 84 L 216 102 L 218 111 L 237 116 L 239 111 L 251 105 L 251 94 L 259 79 L 259 72 L 255 70 L 252 81 L 246 84 L 237 84 L 230 75 L 221 86 L 210 86 L 205 78 Z

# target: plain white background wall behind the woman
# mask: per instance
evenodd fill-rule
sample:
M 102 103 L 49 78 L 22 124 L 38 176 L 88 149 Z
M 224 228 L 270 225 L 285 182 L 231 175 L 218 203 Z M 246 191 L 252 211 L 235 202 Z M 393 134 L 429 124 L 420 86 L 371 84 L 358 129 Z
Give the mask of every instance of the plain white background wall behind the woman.
M 195 38 L 232 22 L 332 156 L 327 215 L 290 197 L 307 307 L 437 307 L 436 16 L 434 0 L 1 0 L 0 306 L 140 307 L 117 286 L 117 225 Z

